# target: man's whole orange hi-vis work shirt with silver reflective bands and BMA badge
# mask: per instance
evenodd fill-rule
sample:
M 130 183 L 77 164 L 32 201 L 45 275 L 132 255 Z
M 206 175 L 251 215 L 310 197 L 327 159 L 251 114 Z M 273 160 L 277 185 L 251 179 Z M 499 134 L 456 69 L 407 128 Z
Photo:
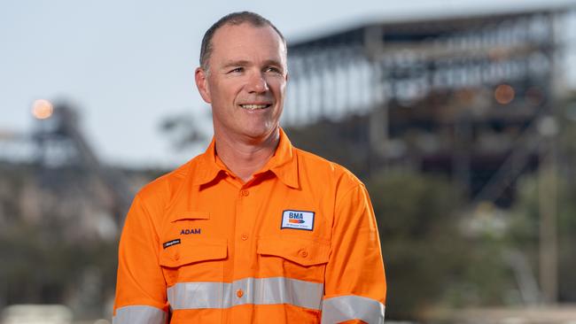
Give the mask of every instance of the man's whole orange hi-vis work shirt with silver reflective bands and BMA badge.
M 114 324 L 383 323 L 368 193 L 292 147 L 241 181 L 205 153 L 146 185 L 122 230 Z

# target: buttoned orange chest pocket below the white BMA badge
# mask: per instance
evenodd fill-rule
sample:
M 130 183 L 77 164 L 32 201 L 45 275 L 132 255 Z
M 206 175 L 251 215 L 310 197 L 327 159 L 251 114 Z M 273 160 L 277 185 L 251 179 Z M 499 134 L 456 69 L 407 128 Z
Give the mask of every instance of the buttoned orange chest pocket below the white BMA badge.
M 264 273 L 323 282 L 330 257 L 330 243 L 300 237 L 262 236 L 258 239 L 258 257 Z

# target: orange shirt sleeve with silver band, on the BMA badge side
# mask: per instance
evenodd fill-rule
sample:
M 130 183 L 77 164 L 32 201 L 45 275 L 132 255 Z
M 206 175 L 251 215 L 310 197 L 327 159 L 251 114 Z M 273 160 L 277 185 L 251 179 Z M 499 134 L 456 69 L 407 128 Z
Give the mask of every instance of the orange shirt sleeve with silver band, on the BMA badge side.
M 385 272 L 370 197 L 359 184 L 337 199 L 322 323 L 384 323 Z

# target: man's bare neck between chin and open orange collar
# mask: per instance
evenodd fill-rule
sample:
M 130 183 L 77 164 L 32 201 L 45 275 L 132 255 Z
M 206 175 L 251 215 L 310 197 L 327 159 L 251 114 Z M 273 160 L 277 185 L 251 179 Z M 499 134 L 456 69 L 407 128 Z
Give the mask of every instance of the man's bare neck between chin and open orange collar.
M 216 154 L 231 172 L 242 181 L 252 179 L 255 172 L 261 169 L 274 155 L 280 141 L 280 128 L 261 139 L 243 141 L 227 134 L 214 133 Z

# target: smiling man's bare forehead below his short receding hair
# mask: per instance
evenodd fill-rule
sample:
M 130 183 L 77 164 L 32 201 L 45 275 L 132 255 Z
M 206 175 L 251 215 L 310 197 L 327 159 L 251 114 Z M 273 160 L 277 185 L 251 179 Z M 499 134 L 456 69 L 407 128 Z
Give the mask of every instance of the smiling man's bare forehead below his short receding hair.
M 275 59 L 285 63 L 286 47 L 280 35 L 269 26 L 249 23 L 224 25 L 214 33 L 210 60 Z M 214 62 L 217 63 L 217 62 Z

